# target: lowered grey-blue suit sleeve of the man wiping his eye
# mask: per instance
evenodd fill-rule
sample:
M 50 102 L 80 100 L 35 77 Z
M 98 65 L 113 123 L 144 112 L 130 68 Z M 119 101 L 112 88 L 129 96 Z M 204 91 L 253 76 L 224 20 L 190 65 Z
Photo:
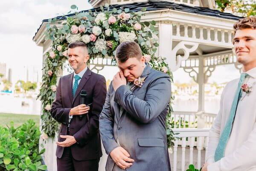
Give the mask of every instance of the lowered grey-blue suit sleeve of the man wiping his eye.
M 110 92 L 111 92 L 111 85 L 108 88 L 107 97 L 105 100 L 105 104 L 103 106 L 102 112 L 99 115 L 99 132 L 102 139 L 102 143 L 106 150 L 107 154 L 119 147 L 116 143 L 116 140 L 113 136 L 113 124 L 114 124 L 114 115 L 111 112 L 111 103 L 110 103 Z

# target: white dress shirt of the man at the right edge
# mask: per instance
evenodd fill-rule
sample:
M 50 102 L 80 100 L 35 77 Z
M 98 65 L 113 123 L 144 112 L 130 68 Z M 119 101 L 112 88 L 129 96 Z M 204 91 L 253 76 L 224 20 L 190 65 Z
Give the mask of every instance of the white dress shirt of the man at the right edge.
M 251 84 L 250 93 L 242 92 L 224 157 L 214 161 L 220 135 L 230 116 L 239 79 L 230 81 L 221 95 L 220 110 L 210 129 L 207 152 L 208 171 L 256 171 L 256 67 L 246 72 L 244 83 Z

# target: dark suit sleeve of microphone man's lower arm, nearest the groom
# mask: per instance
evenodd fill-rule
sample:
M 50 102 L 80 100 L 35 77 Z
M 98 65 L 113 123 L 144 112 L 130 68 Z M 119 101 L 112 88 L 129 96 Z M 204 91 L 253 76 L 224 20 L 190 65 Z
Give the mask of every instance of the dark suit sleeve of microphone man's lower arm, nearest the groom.
M 99 131 L 99 114 L 102 111 L 107 93 L 106 80 L 102 76 L 93 88 L 92 112 L 90 121 L 87 122 L 73 136 L 79 145 L 84 146 L 88 139 Z

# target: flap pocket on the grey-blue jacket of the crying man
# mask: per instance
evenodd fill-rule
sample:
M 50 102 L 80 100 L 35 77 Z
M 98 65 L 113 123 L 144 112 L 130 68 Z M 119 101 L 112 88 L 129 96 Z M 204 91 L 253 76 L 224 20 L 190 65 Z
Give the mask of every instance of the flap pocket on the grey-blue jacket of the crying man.
M 138 138 L 138 143 L 141 147 L 164 147 L 161 138 Z

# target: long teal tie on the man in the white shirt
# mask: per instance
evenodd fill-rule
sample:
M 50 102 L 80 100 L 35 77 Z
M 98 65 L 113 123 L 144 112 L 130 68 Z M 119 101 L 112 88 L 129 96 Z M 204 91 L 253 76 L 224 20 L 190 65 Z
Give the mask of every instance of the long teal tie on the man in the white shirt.
M 237 104 L 242 95 L 241 85 L 243 84 L 247 75 L 248 75 L 247 73 L 242 73 L 240 76 L 240 80 L 239 80 L 238 87 L 236 90 L 236 95 L 233 99 L 233 103 L 231 106 L 230 116 L 229 116 L 229 119 L 227 120 L 227 123 L 226 123 L 224 129 L 223 129 L 223 132 L 221 133 L 221 137 L 219 139 L 218 146 L 215 151 L 215 155 L 214 155 L 215 162 L 219 161 L 222 157 L 224 157 L 227 140 L 229 139 L 233 121 L 234 121 L 235 114 L 236 114 Z

